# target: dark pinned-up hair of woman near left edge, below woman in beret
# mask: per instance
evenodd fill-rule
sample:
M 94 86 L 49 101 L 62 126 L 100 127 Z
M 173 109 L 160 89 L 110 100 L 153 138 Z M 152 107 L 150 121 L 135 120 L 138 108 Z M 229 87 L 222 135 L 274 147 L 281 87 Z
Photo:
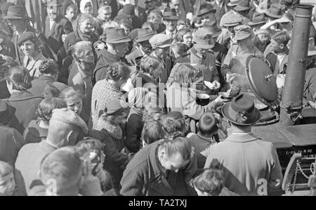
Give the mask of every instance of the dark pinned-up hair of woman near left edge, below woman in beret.
M 27 68 L 22 66 L 11 67 L 6 71 L 6 81 L 13 84 L 13 90 L 26 91 L 32 88 L 31 76 Z

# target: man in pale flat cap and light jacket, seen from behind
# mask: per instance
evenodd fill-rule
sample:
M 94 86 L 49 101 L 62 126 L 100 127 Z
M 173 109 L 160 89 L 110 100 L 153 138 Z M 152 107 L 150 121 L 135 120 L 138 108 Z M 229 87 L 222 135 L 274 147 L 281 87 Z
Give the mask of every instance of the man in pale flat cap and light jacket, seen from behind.
M 22 147 L 15 162 L 15 183 L 19 186 L 15 195 L 27 195 L 39 182 L 41 160 L 54 150 L 74 145 L 81 140 L 81 132 L 88 133 L 84 121 L 72 110 L 54 110 L 48 127 L 46 140 L 30 143 Z

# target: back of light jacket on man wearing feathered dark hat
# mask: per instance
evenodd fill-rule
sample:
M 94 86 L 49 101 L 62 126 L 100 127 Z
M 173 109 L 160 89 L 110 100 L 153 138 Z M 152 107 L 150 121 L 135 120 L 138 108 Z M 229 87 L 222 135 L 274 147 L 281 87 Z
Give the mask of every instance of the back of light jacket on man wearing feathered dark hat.
M 225 171 L 225 187 L 239 195 L 267 195 L 279 188 L 282 171 L 272 143 L 251 133 L 235 133 L 209 150 L 204 168 Z

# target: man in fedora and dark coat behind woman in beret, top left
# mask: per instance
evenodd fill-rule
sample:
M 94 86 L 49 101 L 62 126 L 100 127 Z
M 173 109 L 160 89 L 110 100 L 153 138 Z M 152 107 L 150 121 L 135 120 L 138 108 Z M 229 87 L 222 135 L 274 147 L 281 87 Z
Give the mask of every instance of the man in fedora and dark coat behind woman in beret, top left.
M 13 34 L 13 43 L 15 46 L 16 60 L 20 65 L 22 65 L 25 55 L 18 46 L 18 39 L 21 36 L 21 34 L 25 32 L 34 32 L 37 35 L 37 38 L 39 39 L 41 45 L 43 46 L 43 48 L 41 48 L 41 51 L 44 54 L 44 56 L 46 58 L 51 58 L 55 60 L 55 55 L 53 51 L 51 51 L 51 48 L 48 46 L 45 35 L 39 32 L 37 29 L 34 29 L 34 27 L 32 27 L 31 25 L 29 25 L 30 18 L 27 17 L 24 7 L 9 6 L 8 14 L 4 16 L 4 19 L 6 19 L 8 21 L 8 25 L 13 30 L 15 30 L 15 34 Z

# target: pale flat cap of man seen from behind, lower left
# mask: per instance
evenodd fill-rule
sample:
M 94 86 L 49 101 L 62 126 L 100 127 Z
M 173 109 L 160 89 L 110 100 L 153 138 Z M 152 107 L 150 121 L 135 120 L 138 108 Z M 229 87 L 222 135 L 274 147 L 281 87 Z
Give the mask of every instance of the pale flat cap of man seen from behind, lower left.
M 74 111 L 67 108 L 55 109 L 51 116 L 51 121 L 63 122 L 72 126 L 77 126 L 84 133 L 88 133 L 88 126 L 81 117 Z

